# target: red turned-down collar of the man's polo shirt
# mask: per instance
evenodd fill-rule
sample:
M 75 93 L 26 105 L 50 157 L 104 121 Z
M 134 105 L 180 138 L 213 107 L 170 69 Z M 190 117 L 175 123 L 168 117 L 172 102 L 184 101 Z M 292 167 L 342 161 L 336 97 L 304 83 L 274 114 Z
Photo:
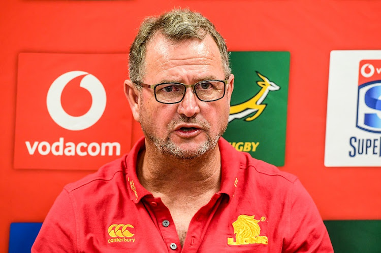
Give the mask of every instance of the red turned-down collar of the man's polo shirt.
M 237 151 L 223 137 L 219 138 L 218 147 L 221 154 L 221 188 L 218 193 L 225 193 L 229 196 L 229 199 L 232 199 L 237 187 L 240 160 L 237 156 Z M 152 196 L 152 194 L 140 184 L 136 174 L 138 154 L 143 149 L 145 149 L 144 137 L 135 143 L 125 160 L 126 180 L 130 198 L 135 203 L 138 203 L 144 196 Z

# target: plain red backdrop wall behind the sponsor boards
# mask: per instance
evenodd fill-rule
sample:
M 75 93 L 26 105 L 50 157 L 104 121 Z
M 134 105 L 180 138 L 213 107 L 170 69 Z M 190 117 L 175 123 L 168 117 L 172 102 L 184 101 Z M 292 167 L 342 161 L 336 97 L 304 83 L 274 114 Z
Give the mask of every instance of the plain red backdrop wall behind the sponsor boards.
M 2 1 L 0 251 L 7 250 L 11 222 L 42 222 L 62 187 L 89 173 L 13 168 L 18 54 L 127 53 L 144 17 L 174 7 L 208 17 L 230 51 L 291 52 L 286 156 L 280 169 L 299 176 L 325 220 L 381 219 L 380 167 L 324 166 L 330 51 L 381 49 L 381 2 Z M 133 131 L 135 142 L 141 135 L 138 124 Z

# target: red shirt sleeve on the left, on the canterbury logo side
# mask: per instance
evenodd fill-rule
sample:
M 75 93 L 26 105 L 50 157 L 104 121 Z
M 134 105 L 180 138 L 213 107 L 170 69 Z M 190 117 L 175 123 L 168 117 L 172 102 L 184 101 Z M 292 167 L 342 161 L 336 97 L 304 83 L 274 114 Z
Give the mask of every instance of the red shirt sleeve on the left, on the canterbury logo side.
M 69 193 L 63 190 L 49 210 L 31 252 L 76 252 L 75 213 Z

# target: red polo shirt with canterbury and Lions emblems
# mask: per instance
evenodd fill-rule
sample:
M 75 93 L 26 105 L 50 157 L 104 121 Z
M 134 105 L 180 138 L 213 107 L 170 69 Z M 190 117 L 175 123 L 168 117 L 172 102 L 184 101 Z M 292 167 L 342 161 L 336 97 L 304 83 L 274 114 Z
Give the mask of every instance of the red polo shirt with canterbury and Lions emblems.
M 223 138 L 218 144 L 221 189 L 192 218 L 183 247 L 168 208 L 139 183 L 142 138 L 130 154 L 63 189 L 32 252 L 333 252 L 297 177 Z

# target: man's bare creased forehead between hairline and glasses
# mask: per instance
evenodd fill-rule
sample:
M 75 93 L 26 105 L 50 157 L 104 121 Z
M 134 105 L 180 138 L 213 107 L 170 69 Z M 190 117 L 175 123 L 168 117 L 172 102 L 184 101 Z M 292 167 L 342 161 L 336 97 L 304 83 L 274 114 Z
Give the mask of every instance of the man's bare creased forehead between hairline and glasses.
M 174 42 L 163 34 L 155 34 L 148 43 L 144 81 L 195 83 L 224 78 L 218 47 L 208 34 L 203 40 Z

